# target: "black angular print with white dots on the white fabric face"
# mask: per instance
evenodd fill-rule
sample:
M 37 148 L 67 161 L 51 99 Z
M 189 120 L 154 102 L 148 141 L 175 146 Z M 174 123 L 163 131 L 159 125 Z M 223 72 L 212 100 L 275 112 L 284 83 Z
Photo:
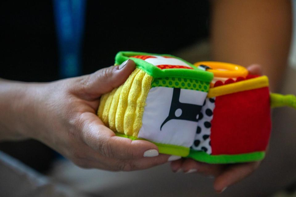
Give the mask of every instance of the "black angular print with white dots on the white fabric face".
M 168 117 L 163 121 L 162 125 L 160 126 L 160 131 L 162 126 L 171 119 L 198 122 L 198 115 L 202 106 L 190 103 L 181 103 L 179 101 L 180 92 L 180 88 L 174 88 L 170 112 Z

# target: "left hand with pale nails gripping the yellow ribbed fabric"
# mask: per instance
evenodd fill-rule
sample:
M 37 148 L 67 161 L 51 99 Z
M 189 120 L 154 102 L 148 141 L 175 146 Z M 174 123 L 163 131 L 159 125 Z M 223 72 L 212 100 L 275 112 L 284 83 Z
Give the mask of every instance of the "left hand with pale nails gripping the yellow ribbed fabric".
M 20 133 L 39 140 L 84 168 L 146 169 L 168 161 L 144 140 L 117 137 L 96 115 L 99 98 L 120 86 L 135 69 L 132 60 L 89 75 L 50 83 L 23 84 Z

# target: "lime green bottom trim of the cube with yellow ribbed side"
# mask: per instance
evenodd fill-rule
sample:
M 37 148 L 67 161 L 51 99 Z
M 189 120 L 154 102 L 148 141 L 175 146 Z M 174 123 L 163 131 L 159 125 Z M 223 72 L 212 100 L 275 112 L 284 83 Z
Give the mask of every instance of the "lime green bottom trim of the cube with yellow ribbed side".
M 121 134 L 118 132 L 115 132 L 115 135 L 117 135 L 119 137 L 129 138 L 131 140 L 149 141 L 147 139 L 128 136 L 128 135 L 124 135 L 124 134 Z M 151 141 L 149 141 L 149 142 L 151 142 Z M 187 157 L 189 154 L 189 151 L 190 151 L 190 148 L 187 148 L 187 147 L 181 147 L 181 146 L 176 146 L 176 145 L 172 145 L 172 144 L 162 144 L 162 143 L 156 143 L 156 142 L 151 142 L 151 143 L 154 143 L 158 147 L 159 153 L 162 153 L 162 154 L 178 155 L 181 157 Z

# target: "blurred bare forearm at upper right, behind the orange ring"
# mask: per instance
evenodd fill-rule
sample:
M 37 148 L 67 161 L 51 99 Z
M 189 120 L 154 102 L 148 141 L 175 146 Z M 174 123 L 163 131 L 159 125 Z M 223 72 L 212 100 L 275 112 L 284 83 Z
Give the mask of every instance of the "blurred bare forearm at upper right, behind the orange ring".
M 279 88 L 291 39 L 291 2 L 212 1 L 212 58 L 243 66 L 260 64 L 271 90 Z

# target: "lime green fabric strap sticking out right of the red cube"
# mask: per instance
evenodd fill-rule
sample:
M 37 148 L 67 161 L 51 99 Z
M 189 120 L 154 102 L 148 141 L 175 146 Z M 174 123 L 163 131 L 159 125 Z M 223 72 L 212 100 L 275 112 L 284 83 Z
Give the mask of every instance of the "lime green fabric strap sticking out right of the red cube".
M 270 94 L 270 107 L 293 107 L 296 109 L 296 97 L 293 94 L 287 94 L 287 95 L 282 95 L 282 94 L 276 94 L 276 93 L 271 93 Z

